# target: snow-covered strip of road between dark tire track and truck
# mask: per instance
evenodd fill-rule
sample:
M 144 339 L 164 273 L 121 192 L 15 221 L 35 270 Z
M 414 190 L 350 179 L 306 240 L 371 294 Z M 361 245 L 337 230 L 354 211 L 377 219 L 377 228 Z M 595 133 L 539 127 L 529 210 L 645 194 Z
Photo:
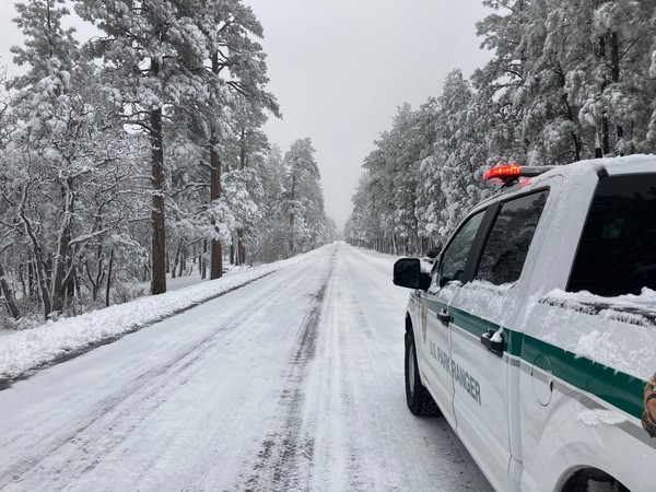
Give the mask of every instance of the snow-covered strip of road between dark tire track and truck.
M 323 385 L 316 398 L 308 396 L 308 401 L 317 400 L 313 425 L 321 436 L 315 441 L 312 489 L 488 490 L 444 420 L 417 419 L 407 410 L 402 306 L 398 331 L 390 329 L 395 292 L 375 286 L 391 284 L 390 279 L 385 279 L 385 268 L 358 253 L 347 249 L 339 258 L 337 288 L 329 289 L 315 371 L 307 382 Z M 378 303 L 372 302 L 372 293 Z M 325 340 L 327 332 L 332 335 Z M 323 422 L 324 415 L 335 417 Z

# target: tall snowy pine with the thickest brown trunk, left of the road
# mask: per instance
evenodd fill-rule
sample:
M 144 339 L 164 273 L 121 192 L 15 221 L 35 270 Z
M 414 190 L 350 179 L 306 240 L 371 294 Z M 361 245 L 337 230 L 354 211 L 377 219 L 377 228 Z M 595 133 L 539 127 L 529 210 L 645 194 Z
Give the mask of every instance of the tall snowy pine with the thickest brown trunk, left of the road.
M 195 7 L 192 2 L 191 9 Z M 148 134 L 151 142 L 151 292 L 160 294 L 166 291 L 164 109 L 184 104 L 190 96 L 207 97 L 207 84 L 199 75 L 203 39 L 181 5 L 166 0 L 85 0 L 75 2 L 75 11 L 105 33 L 90 40 L 89 48 L 103 60 L 106 93 L 125 121 Z M 189 51 L 200 51 L 196 65 L 189 65 Z

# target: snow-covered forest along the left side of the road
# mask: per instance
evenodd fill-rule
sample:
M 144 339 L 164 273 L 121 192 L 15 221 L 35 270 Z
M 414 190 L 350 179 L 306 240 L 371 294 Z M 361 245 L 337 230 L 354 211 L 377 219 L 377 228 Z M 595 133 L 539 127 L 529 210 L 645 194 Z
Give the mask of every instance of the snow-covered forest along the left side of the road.
M 262 131 L 280 108 L 241 0 L 16 10 L 23 70 L 0 81 L 0 328 L 333 241 L 311 139 L 283 155 Z M 98 35 L 78 39 L 71 15 Z

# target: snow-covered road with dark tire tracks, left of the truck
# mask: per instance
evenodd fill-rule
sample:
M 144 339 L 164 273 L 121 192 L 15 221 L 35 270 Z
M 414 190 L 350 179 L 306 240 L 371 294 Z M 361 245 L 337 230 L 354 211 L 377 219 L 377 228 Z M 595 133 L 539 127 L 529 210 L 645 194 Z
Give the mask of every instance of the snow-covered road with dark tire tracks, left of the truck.
M 0 391 L 0 490 L 489 490 L 406 407 L 394 260 L 324 247 Z

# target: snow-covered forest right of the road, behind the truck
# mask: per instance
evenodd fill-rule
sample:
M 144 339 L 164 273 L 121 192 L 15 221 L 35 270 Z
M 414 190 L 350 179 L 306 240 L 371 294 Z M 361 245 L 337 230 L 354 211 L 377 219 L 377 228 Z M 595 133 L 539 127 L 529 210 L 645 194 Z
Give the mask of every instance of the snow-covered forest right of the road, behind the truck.
M 484 0 L 490 61 L 398 108 L 365 157 L 347 239 L 395 255 L 444 246 L 499 163 L 656 150 L 656 1 Z

